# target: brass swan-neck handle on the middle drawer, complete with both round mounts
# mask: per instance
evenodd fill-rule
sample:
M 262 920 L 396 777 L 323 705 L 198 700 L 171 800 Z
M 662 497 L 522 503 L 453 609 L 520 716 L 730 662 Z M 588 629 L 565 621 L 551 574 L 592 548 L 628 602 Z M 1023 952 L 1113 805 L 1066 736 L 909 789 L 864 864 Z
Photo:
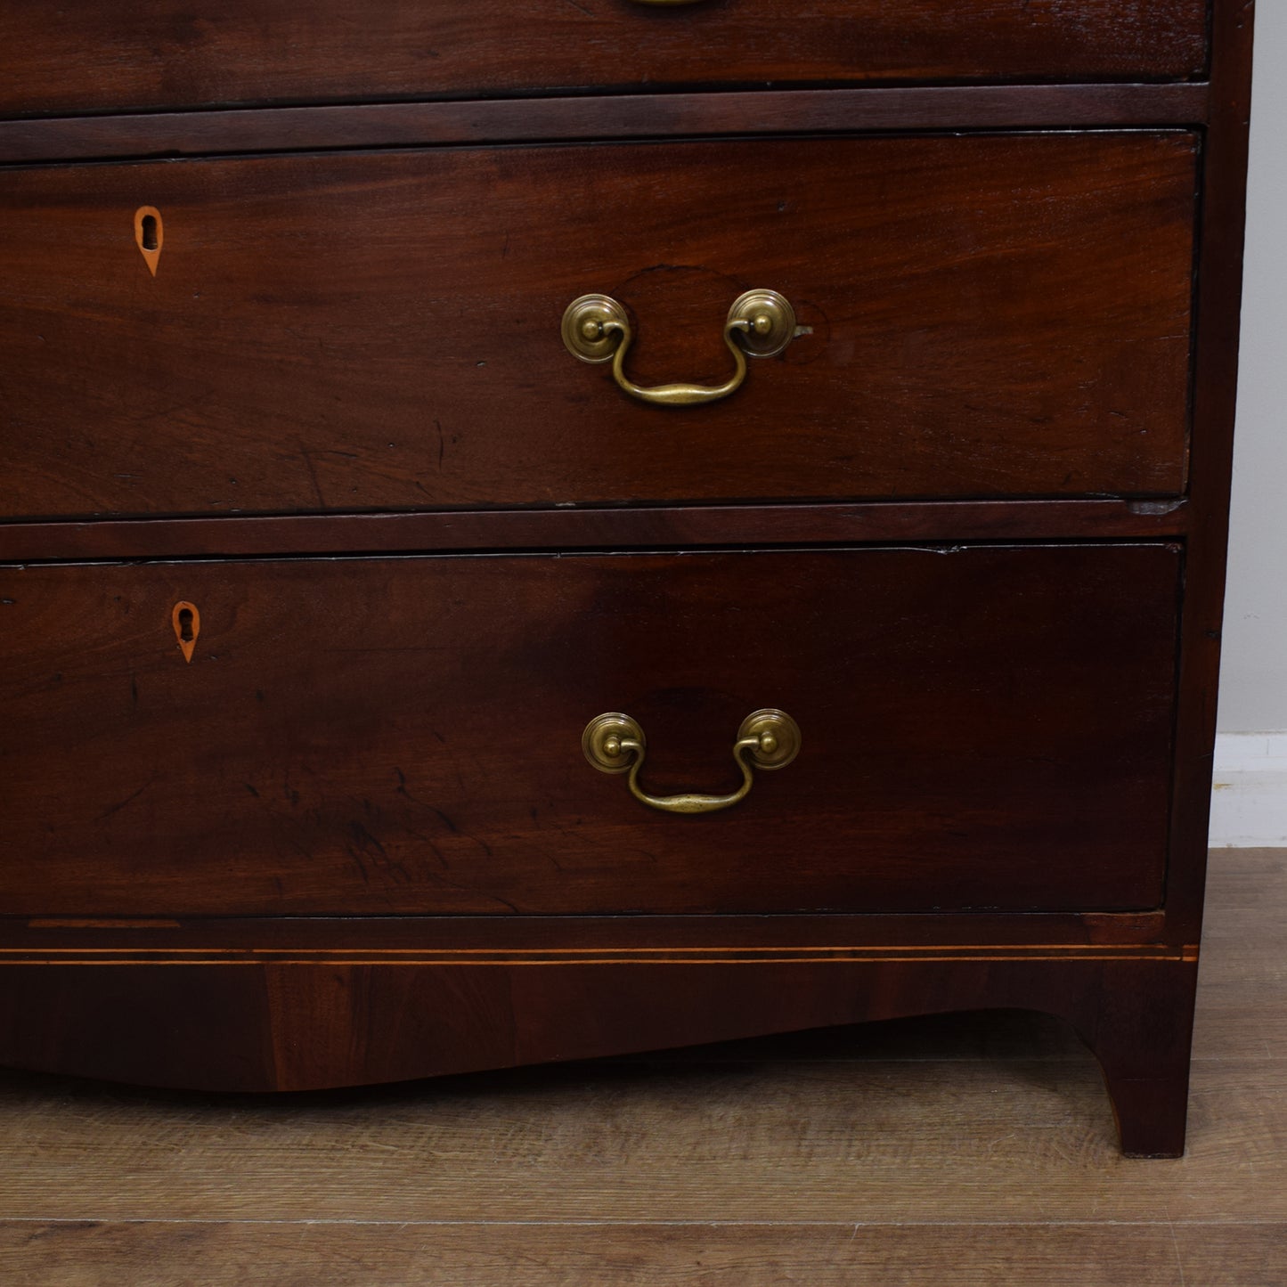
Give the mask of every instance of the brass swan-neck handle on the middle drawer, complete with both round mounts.
M 582 362 L 611 362 L 613 378 L 632 398 L 663 407 L 695 407 L 727 398 L 746 378 L 746 355 L 772 358 L 795 338 L 795 310 L 777 291 L 739 295 L 725 320 L 732 378 L 722 385 L 655 385 L 646 389 L 625 375 L 625 353 L 634 338 L 625 309 L 610 295 L 582 295 L 564 313 L 568 351 Z

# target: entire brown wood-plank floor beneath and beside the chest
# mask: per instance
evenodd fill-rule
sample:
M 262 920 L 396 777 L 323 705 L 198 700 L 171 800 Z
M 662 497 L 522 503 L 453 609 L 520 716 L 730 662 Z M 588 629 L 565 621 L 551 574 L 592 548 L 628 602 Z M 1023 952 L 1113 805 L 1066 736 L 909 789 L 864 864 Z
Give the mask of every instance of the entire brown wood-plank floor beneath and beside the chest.
M 1183 1161 L 1019 1014 L 277 1099 L 0 1072 L 0 1283 L 1283 1287 L 1287 852 L 1208 907 Z

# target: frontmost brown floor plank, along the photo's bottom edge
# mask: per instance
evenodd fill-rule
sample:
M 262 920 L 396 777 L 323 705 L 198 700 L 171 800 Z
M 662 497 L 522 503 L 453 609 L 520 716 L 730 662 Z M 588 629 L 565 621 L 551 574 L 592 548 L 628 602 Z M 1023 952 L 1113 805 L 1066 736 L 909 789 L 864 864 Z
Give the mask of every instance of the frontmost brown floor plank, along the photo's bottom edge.
M 0 1259 L 24 1287 L 1282 1287 L 1287 1227 L 0 1224 Z

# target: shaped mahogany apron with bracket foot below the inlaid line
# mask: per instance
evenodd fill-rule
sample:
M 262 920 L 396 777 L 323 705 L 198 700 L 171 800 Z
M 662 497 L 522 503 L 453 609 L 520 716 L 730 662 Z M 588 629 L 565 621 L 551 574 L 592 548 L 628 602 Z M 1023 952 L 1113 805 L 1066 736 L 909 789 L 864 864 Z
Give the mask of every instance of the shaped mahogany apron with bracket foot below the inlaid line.
M 214 1091 L 317 1090 L 974 1009 L 1067 1019 L 1131 1156 L 1184 1149 L 1196 954 L 9 964 L 0 1062 Z M 974 949 L 978 952 L 977 949 Z

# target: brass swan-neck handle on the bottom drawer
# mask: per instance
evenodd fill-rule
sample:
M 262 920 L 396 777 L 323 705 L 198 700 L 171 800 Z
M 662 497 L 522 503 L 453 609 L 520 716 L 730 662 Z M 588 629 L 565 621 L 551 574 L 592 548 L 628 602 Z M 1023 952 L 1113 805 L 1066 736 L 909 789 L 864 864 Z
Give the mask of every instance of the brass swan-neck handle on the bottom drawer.
M 600 772 L 628 772 L 625 785 L 649 808 L 659 808 L 667 813 L 713 813 L 745 798 L 753 781 L 752 766 L 785 768 L 799 754 L 801 731 L 785 710 L 767 708 L 746 716 L 737 730 L 737 740 L 732 744 L 732 758 L 741 770 L 741 786 L 730 795 L 704 795 L 700 792 L 650 795 L 638 781 L 647 740 L 638 723 L 619 710 L 591 719 L 580 735 L 580 748 Z

